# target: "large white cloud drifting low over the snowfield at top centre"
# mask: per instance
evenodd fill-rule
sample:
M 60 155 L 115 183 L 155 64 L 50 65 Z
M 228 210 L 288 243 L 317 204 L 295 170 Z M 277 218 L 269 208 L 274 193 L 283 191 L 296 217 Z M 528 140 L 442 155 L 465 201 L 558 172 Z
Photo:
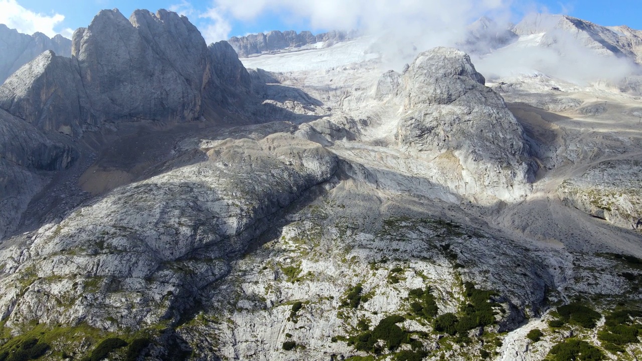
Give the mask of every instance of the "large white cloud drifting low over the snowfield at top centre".
M 212 0 L 227 21 L 254 21 L 274 14 L 297 19 L 309 30 L 361 30 L 385 39 L 386 65 L 397 68 L 410 49 L 453 46 L 482 15 L 505 17 L 512 0 Z

